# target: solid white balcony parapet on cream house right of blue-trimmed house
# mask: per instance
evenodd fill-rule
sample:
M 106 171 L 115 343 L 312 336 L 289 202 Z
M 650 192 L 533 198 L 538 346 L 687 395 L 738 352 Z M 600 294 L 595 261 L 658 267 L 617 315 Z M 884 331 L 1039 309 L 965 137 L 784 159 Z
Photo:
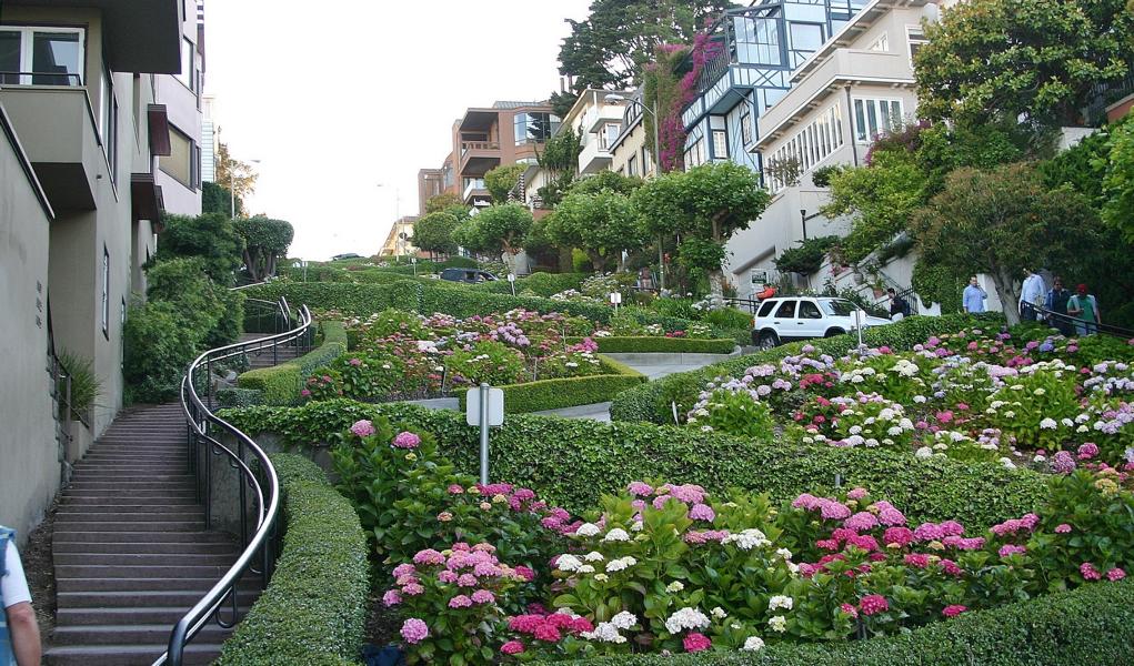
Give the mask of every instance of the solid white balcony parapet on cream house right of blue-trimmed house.
M 789 133 L 809 112 L 847 85 L 878 84 L 891 87 L 914 85 L 914 72 L 905 53 L 835 49 L 796 75 L 795 87 L 768 109 L 760 119 L 756 150 Z

